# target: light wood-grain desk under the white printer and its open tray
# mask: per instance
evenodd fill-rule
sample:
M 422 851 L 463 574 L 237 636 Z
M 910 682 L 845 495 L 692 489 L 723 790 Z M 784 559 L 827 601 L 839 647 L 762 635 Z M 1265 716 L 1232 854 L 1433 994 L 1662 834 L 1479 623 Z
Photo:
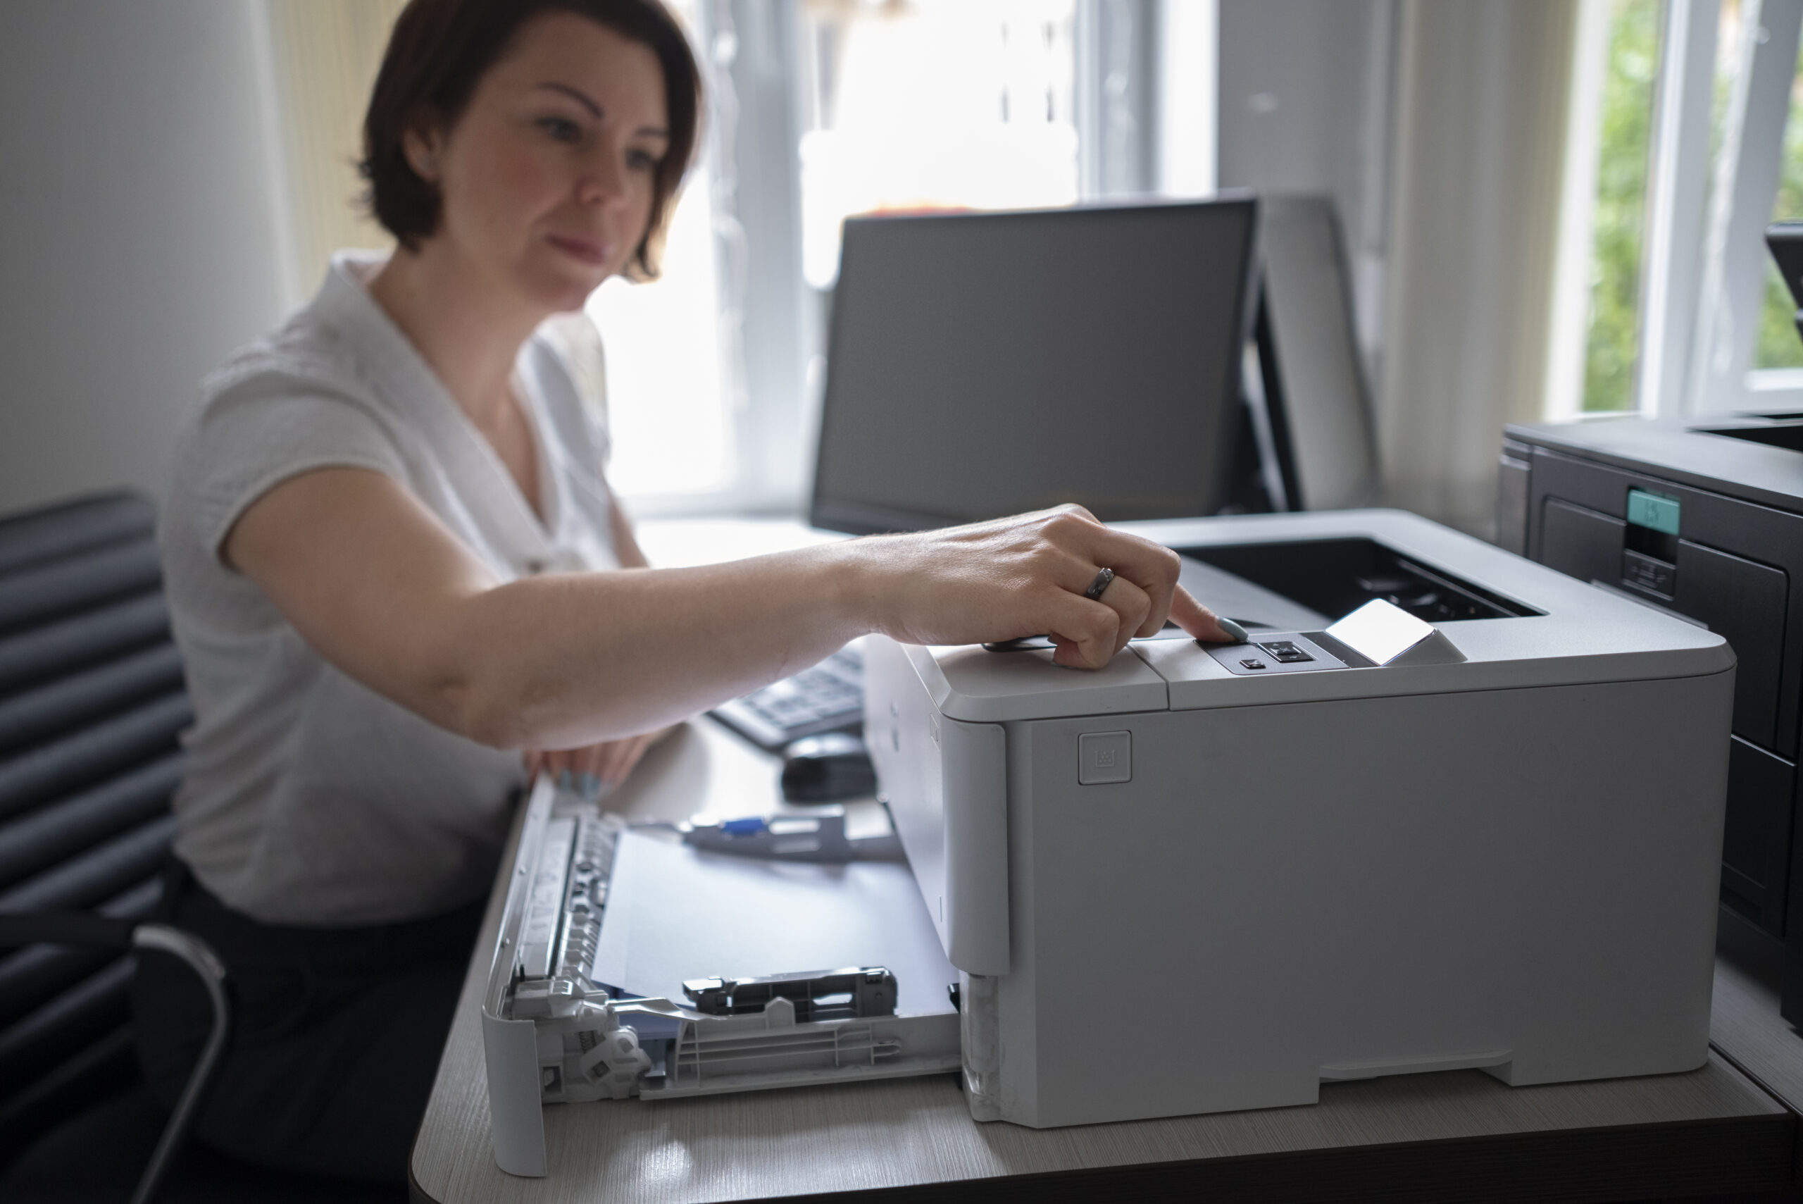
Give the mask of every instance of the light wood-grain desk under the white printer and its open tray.
M 759 813 L 775 775 L 775 759 L 701 721 L 608 807 Z M 1796 1117 L 1715 1054 L 1659 1078 L 1511 1089 L 1453 1071 L 1327 1083 L 1316 1107 L 1053 1130 L 977 1125 L 956 1076 L 552 1107 L 550 1177 L 514 1179 L 489 1145 L 478 1018 L 499 905 L 498 890 L 413 1150 L 418 1199 L 1632 1200 L 1792 1182 Z

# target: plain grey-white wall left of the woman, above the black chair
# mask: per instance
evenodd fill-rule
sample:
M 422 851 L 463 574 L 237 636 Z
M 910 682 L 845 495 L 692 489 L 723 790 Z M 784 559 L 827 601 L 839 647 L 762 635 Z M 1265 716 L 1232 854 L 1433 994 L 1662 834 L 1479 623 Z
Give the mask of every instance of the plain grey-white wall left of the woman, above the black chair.
M 160 488 L 283 308 L 252 0 L 0 4 L 0 514 Z

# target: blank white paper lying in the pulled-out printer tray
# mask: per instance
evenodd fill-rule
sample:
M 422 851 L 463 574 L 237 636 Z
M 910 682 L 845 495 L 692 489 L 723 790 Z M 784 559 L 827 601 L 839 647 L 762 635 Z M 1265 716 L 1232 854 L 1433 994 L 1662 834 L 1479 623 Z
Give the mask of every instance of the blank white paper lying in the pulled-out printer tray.
M 952 1009 L 957 971 L 900 862 L 808 865 L 701 853 L 626 833 L 613 862 L 595 982 L 685 1002 L 685 979 L 887 966 L 902 1015 Z

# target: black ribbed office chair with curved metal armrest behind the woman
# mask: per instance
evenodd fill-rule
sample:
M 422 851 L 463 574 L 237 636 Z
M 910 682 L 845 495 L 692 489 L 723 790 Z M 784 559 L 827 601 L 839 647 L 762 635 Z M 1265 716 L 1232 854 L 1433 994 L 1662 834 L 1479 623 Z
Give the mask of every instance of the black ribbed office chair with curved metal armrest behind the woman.
M 153 523 L 130 494 L 0 521 L 0 1199 L 146 1200 L 160 1182 L 164 1200 L 398 1200 L 204 1148 L 177 1157 L 227 995 L 213 952 L 155 923 L 193 712 Z M 133 1053 L 144 952 L 188 962 L 213 1000 L 168 1116 Z

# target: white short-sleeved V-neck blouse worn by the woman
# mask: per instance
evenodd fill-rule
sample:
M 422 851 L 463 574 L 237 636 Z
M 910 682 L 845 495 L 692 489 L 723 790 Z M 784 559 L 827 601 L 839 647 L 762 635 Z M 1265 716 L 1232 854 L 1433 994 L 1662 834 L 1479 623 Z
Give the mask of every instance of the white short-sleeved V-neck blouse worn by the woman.
M 516 364 L 541 523 L 366 292 L 380 263 L 334 256 L 310 305 L 206 382 L 162 506 L 164 588 L 195 705 L 175 851 L 207 890 L 265 923 L 397 923 L 480 898 L 523 768 L 517 752 L 438 728 L 321 660 L 220 561 L 245 506 L 310 469 L 371 469 L 501 580 L 618 568 L 593 326 L 554 319 Z

